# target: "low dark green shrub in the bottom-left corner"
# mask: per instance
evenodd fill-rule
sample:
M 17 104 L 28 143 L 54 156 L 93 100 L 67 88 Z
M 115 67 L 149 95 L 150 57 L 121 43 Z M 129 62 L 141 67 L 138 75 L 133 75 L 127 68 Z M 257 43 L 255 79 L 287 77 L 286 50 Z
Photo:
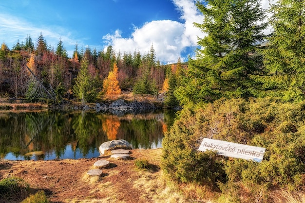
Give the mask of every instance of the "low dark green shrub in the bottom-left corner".
M 30 190 L 30 185 L 17 177 L 4 178 L 0 181 L 0 200 L 19 201 L 24 199 Z

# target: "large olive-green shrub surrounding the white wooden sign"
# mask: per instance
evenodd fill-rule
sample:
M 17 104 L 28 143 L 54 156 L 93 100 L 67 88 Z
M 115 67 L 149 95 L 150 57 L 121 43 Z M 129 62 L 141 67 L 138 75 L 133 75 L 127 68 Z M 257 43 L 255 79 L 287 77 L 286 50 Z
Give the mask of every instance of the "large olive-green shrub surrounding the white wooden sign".
M 199 152 L 204 137 L 264 147 L 264 160 Z M 268 202 L 273 188 L 304 189 L 305 102 L 220 99 L 184 109 L 162 145 L 161 166 L 173 180 L 218 186 L 231 202 Z

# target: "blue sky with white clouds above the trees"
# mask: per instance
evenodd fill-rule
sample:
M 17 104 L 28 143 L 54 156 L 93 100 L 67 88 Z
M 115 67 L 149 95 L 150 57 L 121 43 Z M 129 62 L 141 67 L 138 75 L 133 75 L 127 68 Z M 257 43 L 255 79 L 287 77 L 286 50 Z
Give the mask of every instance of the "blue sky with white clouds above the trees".
M 195 55 L 198 36 L 193 26 L 203 15 L 195 0 L 0 0 L 0 40 L 11 49 L 25 42 L 34 44 L 43 34 L 56 49 L 59 40 L 69 57 L 78 49 L 147 54 L 153 46 L 161 64 L 182 62 Z M 267 8 L 269 0 L 262 0 Z M 1 42 L 1 41 L 0 41 Z

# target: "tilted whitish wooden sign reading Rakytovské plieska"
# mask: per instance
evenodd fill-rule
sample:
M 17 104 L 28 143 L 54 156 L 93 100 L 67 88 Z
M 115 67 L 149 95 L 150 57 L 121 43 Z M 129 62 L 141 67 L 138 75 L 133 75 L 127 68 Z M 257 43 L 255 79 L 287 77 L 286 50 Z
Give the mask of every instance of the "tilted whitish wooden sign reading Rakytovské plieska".
M 261 162 L 266 148 L 204 138 L 198 150 L 203 152 L 212 150 L 224 156 Z

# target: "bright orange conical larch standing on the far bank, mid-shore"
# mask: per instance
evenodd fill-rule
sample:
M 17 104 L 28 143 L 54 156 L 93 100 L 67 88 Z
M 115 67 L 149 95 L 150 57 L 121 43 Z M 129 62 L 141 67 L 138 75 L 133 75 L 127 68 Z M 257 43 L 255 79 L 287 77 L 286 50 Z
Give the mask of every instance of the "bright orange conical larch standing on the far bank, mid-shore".
M 118 85 L 118 68 L 116 63 L 114 63 L 114 69 L 109 72 L 108 77 L 104 80 L 103 83 L 103 92 L 105 95 L 118 95 L 122 93 L 120 86 Z

